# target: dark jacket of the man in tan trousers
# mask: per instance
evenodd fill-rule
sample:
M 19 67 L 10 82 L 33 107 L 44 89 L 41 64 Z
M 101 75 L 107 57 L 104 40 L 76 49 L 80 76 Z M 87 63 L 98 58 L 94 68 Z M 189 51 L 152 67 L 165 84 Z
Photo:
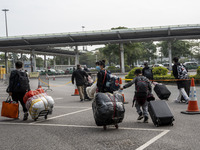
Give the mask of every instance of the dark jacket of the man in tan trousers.
M 76 86 L 83 86 L 87 80 L 85 79 L 85 77 L 88 77 L 87 73 L 82 69 L 77 69 L 72 74 L 72 83 L 74 84 L 74 78 L 75 78 Z

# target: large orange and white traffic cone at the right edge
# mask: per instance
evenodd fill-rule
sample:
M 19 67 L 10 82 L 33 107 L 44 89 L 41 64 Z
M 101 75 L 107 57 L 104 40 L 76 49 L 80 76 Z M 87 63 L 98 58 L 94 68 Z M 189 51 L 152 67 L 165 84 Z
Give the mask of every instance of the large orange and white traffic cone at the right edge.
M 188 103 L 188 108 L 186 111 L 182 111 L 183 114 L 200 114 L 198 103 L 197 103 L 197 95 L 196 95 L 196 88 L 194 85 L 194 78 L 191 81 L 190 87 L 190 100 Z

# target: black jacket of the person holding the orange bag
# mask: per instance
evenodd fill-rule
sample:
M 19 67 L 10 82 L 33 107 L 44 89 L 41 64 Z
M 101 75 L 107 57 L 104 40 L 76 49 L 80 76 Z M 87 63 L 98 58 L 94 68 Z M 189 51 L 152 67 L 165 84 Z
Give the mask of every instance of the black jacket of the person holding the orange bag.
M 15 92 L 14 89 L 16 88 L 17 84 L 18 84 L 18 80 L 19 80 L 19 75 L 18 73 L 21 73 L 22 74 L 22 71 L 21 70 L 13 70 L 11 71 L 10 73 L 10 78 L 9 78 L 9 85 L 8 85 L 8 88 L 6 90 L 6 92 Z M 26 77 L 28 78 L 27 74 L 25 72 L 23 72 L 23 74 L 26 75 Z M 28 80 L 29 82 L 29 80 Z M 30 85 L 28 84 L 28 91 L 30 90 Z

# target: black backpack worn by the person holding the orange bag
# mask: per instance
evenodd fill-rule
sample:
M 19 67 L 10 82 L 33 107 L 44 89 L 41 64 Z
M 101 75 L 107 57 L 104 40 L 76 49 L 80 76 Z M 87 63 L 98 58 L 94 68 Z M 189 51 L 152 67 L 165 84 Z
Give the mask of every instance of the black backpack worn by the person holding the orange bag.
M 17 71 L 18 79 L 14 92 L 26 92 L 29 90 L 29 79 L 26 72 Z

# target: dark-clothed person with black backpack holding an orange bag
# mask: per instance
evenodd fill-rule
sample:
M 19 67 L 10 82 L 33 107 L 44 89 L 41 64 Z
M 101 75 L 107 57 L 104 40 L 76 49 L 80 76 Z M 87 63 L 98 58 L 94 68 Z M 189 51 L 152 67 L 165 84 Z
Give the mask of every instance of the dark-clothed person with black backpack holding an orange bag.
M 29 79 L 27 73 L 22 70 L 22 62 L 16 62 L 15 67 L 16 70 L 11 71 L 10 74 L 7 92 L 12 96 L 13 101 L 16 101 L 17 103 L 20 101 L 24 112 L 23 120 L 27 120 L 28 110 L 23 102 L 23 97 L 27 91 L 30 91 Z

